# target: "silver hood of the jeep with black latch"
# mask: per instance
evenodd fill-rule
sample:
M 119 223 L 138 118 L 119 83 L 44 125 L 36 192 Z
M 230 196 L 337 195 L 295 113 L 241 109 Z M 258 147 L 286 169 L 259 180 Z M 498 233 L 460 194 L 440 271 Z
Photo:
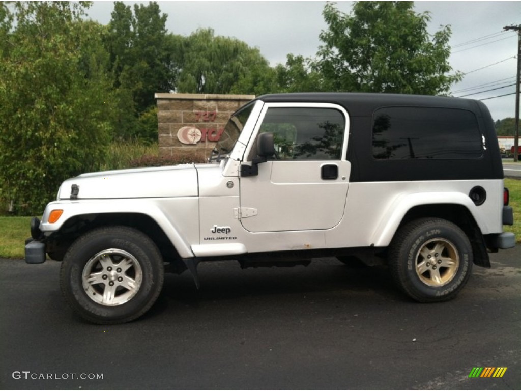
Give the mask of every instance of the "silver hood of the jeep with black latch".
M 77 199 L 196 197 L 199 194 L 193 164 L 82 174 L 64 181 L 58 198 L 69 199 L 73 185 L 79 188 Z

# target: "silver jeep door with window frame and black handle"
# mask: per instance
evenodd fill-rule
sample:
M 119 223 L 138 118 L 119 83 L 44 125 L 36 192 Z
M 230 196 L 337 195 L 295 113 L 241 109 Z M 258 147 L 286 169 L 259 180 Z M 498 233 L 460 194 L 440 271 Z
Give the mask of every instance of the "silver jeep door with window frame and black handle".
M 241 177 L 243 227 L 268 232 L 340 223 L 351 170 L 348 127 L 347 113 L 336 105 L 266 104 L 254 135 L 274 133 L 277 153 L 258 164 L 258 175 Z M 246 160 L 255 155 L 253 148 Z

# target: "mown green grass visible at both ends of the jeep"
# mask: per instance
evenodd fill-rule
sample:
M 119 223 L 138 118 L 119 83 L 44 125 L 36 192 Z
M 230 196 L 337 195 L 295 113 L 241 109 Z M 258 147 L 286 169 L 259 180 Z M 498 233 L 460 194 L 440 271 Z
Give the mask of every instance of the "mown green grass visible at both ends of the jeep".
M 521 180 L 505 179 L 510 190 L 510 205 L 514 209 L 514 225 L 504 226 L 505 231 L 516 234 L 516 242 L 521 243 Z M 0 258 L 23 258 L 25 240 L 31 236 L 31 217 L 0 216 Z

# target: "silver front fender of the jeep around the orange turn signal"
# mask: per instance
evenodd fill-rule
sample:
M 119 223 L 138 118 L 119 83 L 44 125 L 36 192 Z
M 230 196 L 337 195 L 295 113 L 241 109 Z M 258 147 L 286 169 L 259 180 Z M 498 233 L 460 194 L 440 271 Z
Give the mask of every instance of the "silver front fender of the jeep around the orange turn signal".
M 56 209 L 63 210 L 63 214 L 58 221 L 50 223 L 49 214 Z M 48 236 L 72 217 L 105 213 L 140 213 L 151 217 L 164 231 L 181 258 L 192 258 L 194 254 L 191 246 L 199 244 L 197 197 L 54 201 L 45 208 L 40 230 Z

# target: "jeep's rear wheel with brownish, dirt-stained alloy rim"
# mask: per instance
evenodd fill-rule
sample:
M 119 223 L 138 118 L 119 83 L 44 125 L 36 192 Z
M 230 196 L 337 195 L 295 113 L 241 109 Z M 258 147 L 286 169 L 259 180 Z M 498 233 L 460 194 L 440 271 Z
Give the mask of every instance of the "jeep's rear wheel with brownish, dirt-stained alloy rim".
M 440 218 L 404 225 L 389 249 L 395 282 L 420 302 L 453 299 L 470 277 L 472 262 L 472 246 L 463 230 Z

